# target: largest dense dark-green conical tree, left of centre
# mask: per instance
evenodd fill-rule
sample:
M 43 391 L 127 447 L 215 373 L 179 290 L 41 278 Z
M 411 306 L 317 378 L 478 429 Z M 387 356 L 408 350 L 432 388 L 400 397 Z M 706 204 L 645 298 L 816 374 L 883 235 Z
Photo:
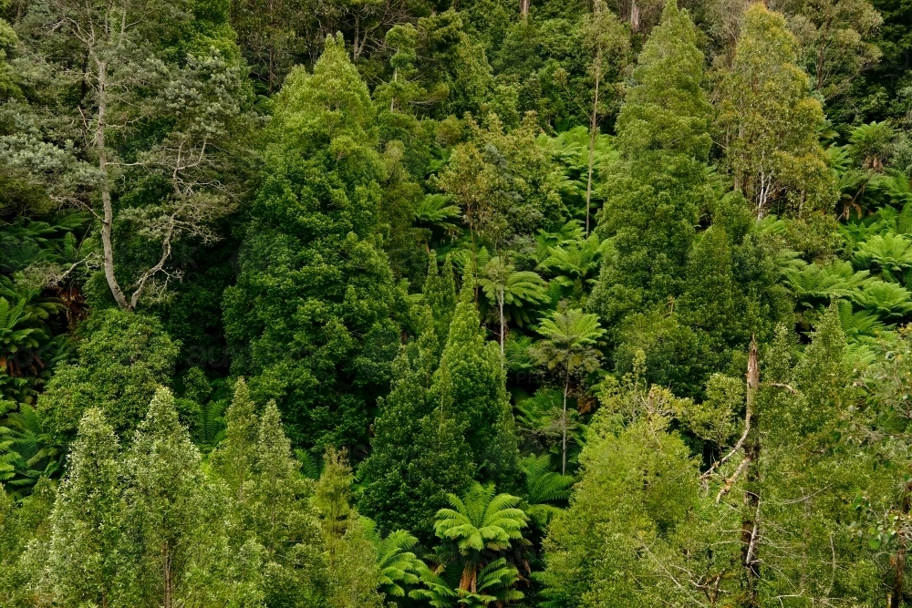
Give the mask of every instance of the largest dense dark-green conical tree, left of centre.
M 234 370 L 295 444 L 358 445 L 389 383 L 400 294 L 378 236 L 375 109 L 341 36 L 276 98 L 241 271 L 224 298 Z

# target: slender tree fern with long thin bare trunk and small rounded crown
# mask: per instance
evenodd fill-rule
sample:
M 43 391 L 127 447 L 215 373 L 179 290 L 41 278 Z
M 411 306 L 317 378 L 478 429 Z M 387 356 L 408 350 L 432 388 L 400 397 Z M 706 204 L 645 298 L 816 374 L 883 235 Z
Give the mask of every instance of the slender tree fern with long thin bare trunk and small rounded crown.
M 600 366 L 602 354 L 596 345 L 605 330 L 598 326 L 596 314 L 571 308 L 554 311 L 550 318 L 542 320 L 537 331 L 544 339 L 534 346 L 533 356 L 538 365 L 554 372 L 564 385 L 561 419 L 561 474 L 564 475 L 567 468 L 567 396 L 570 385 Z

